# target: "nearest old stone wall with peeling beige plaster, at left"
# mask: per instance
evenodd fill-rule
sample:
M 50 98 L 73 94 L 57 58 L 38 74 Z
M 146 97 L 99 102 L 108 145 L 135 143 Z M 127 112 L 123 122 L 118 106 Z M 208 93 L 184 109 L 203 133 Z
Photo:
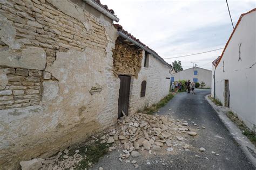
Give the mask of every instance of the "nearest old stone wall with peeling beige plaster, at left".
M 76 2 L 83 5 L 0 1 L 0 169 L 48 157 L 117 120 L 117 30 Z

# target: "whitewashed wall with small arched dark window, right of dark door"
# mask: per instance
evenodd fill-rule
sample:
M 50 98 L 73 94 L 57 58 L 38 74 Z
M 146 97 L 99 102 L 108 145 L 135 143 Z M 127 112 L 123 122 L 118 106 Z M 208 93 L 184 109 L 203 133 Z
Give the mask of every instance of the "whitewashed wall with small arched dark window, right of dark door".
M 171 77 L 170 68 L 154 58 L 153 55 L 149 55 L 149 67 L 144 67 L 144 57 L 145 55 L 143 55 L 142 68 L 138 74 L 138 79 L 132 77 L 131 80 L 129 114 L 134 114 L 145 106 L 158 103 L 169 94 L 170 79 L 166 79 L 166 77 Z M 147 82 L 146 95 L 140 97 L 144 80 Z

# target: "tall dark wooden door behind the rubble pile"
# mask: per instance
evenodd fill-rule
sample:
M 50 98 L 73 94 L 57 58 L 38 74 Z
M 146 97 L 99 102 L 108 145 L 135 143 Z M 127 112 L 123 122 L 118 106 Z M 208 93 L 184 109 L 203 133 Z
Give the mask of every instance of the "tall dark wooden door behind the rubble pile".
M 120 118 L 123 116 L 122 111 L 128 115 L 131 76 L 119 75 L 118 77 L 120 79 L 118 118 Z

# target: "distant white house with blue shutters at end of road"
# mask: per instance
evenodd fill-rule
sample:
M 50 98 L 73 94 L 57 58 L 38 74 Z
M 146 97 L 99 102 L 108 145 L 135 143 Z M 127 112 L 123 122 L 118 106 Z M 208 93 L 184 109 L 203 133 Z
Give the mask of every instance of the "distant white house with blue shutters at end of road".
M 171 77 L 171 82 L 179 80 L 190 80 L 191 82 L 205 82 L 206 86 L 204 88 L 211 88 L 211 76 L 212 71 L 200 67 L 192 67 L 185 69 L 178 73 L 173 73 Z

